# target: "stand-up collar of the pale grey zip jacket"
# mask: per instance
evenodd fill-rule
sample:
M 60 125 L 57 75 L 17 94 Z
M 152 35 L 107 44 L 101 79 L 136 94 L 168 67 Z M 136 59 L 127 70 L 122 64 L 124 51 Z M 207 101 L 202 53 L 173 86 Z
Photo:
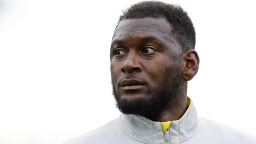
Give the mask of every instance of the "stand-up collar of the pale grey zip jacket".
M 190 99 L 185 114 L 177 121 L 172 121 L 169 129 L 163 132 L 160 122 L 154 122 L 142 116 L 121 114 L 119 124 L 132 138 L 140 141 L 156 142 L 165 135 L 175 141 L 186 141 L 192 137 L 198 127 L 196 108 Z

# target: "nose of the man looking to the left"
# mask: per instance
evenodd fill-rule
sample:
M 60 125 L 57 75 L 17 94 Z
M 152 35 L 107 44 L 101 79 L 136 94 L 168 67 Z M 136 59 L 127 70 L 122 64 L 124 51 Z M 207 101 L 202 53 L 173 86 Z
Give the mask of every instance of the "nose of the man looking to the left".
M 121 70 L 123 73 L 140 72 L 141 66 L 131 59 L 126 59 L 123 63 L 123 66 L 121 66 Z

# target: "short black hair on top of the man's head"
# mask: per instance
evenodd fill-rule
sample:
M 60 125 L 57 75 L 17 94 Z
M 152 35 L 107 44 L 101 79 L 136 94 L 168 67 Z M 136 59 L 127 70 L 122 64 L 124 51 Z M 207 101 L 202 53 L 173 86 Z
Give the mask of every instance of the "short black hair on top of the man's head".
M 119 21 L 123 19 L 140 18 L 166 18 L 171 24 L 172 34 L 180 44 L 182 52 L 195 49 L 196 33 L 188 13 L 180 5 L 166 4 L 158 1 L 143 1 L 133 4 L 129 9 L 123 11 Z

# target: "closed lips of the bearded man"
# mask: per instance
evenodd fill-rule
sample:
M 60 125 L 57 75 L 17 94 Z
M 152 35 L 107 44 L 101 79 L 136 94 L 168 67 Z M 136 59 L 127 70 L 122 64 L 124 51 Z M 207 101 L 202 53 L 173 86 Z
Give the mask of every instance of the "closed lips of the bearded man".
M 137 90 L 141 89 L 145 86 L 145 82 L 140 81 L 139 79 L 131 78 L 131 79 L 123 79 L 120 83 L 120 86 L 124 90 Z

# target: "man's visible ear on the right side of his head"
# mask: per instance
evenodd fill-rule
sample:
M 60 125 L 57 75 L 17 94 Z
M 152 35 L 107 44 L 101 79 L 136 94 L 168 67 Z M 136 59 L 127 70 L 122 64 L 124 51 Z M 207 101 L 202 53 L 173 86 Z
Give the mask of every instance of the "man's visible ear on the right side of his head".
M 199 68 L 199 57 L 195 50 L 189 50 L 181 56 L 181 71 L 185 81 L 190 81 Z

